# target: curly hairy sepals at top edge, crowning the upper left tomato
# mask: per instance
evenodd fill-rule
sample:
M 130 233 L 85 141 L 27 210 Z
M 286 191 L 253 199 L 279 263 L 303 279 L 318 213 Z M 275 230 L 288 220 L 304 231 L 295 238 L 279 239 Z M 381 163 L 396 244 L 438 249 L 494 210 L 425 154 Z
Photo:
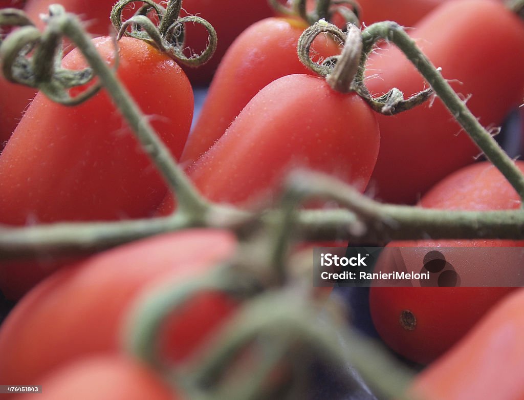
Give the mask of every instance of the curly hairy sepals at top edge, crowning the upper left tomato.
M 198 67 L 208 62 L 213 56 L 217 37 L 213 26 L 203 18 L 196 16 L 180 17 L 182 3 L 180 0 L 172 0 L 167 3 L 166 8 L 155 3 L 153 0 L 139 0 L 144 3 L 135 15 L 124 21 L 122 12 L 124 8 L 135 0 L 120 0 L 115 4 L 111 12 L 111 21 L 118 31 L 117 38 L 130 36 L 147 41 L 161 51 L 167 53 L 171 58 L 189 67 Z M 147 14 L 154 10 L 159 20 L 155 25 Z M 206 48 L 198 55 L 185 56 L 185 24 L 201 24 L 208 31 L 209 42 Z M 129 30 L 128 28 L 131 27 Z

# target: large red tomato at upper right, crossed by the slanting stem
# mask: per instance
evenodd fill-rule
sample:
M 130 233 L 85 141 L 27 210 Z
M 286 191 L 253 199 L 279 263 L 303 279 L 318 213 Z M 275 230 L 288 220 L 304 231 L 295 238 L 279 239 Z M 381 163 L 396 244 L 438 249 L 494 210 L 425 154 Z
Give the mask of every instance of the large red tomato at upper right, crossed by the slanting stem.
M 517 66 L 524 62 L 524 24 L 504 5 L 488 0 L 449 2 L 409 33 L 442 68 L 444 78 L 453 80 L 457 92 L 472 94 L 467 106 L 484 126 L 499 125 L 521 102 L 524 74 Z M 397 87 L 409 95 L 424 87 L 420 74 L 397 49 L 372 55 L 369 68 L 369 74 L 380 77 L 368 80 L 372 93 Z M 459 134 L 460 126 L 438 99 L 431 107 L 425 104 L 377 119 L 380 152 L 370 188 L 380 200 L 413 203 L 480 153 L 465 132 Z

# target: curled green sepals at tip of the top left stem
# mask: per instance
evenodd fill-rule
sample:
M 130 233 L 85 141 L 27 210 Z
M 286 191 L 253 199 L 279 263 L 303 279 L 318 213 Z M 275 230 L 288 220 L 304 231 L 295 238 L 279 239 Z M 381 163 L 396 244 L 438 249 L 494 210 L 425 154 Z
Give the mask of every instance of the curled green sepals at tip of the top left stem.
M 52 101 L 63 105 L 80 104 L 94 94 L 101 85 L 95 83 L 80 94 L 71 96 L 69 89 L 89 83 L 93 79 L 90 68 L 69 70 L 61 67 L 63 21 L 73 18 L 60 5 L 51 5 L 47 24 L 39 31 L 21 10 L 0 11 L 0 26 L 18 27 L 0 44 L 0 58 L 4 77 L 14 83 L 37 88 Z M 115 68 L 118 51 L 115 47 Z

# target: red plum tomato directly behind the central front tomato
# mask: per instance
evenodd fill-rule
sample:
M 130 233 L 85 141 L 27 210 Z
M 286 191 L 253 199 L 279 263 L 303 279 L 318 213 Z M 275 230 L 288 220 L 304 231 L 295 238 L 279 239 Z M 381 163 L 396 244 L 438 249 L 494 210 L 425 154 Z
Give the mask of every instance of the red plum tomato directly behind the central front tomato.
M 299 20 L 267 18 L 238 36 L 216 71 L 182 162 L 192 163 L 204 154 L 266 85 L 285 75 L 313 74 L 297 56 L 298 39 L 306 27 Z M 328 57 L 340 48 L 330 39 L 318 39 L 313 52 Z

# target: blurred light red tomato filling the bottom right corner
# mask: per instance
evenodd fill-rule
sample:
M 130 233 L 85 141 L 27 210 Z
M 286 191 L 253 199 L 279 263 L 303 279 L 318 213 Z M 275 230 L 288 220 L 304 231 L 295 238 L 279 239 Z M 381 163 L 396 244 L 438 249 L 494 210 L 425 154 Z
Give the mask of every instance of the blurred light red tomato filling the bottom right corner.
M 414 381 L 414 398 L 524 398 L 524 289 L 501 301 Z

